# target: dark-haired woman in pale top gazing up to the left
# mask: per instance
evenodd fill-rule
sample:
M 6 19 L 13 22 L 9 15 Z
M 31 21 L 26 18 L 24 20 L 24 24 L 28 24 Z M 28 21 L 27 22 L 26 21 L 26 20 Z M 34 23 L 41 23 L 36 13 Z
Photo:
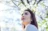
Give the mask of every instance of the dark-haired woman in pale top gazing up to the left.
M 38 31 L 38 25 L 34 13 L 26 9 L 22 14 L 23 31 Z

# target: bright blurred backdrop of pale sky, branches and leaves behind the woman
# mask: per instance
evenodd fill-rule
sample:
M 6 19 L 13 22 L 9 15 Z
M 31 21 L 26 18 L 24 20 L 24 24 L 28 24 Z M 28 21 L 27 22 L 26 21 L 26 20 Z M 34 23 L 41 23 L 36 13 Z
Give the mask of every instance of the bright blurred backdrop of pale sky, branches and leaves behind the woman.
M 30 8 L 39 31 L 48 31 L 48 0 L 0 0 L 0 31 L 22 31 L 22 12 Z

